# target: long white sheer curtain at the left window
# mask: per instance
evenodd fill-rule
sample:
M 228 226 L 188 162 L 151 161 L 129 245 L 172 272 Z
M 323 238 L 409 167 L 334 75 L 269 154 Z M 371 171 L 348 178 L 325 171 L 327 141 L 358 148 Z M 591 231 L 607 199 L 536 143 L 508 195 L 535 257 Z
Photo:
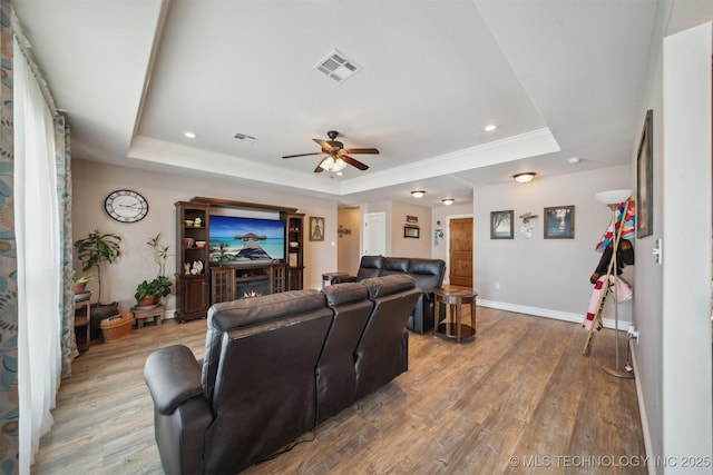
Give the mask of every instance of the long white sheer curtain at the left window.
M 14 224 L 18 248 L 20 473 L 29 473 L 61 370 L 59 218 L 52 117 L 14 41 Z

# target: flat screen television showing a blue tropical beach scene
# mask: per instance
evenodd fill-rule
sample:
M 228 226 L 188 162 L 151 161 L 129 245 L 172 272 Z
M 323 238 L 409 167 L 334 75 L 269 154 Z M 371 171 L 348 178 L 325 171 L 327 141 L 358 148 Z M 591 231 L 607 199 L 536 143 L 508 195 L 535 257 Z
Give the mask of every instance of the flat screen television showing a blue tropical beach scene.
M 279 219 L 211 215 L 211 261 L 258 264 L 285 258 L 285 225 Z

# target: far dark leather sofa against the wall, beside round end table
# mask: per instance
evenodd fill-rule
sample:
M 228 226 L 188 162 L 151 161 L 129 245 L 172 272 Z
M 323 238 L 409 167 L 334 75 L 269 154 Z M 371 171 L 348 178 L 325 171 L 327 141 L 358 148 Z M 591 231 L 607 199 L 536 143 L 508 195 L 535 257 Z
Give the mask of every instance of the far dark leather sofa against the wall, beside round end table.
M 413 307 L 413 314 L 409 317 L 406 327 L 416 333 L 423 334 L 433 328 L 433 293 L 429 289 L 438 288 L 443 284 L 446 275 L 446 261 L 442 259 L 421 259 L 409 257 L 362 256 L 356 276 L 335 276 L 332 284 L 346 281 L 360 281 L 362 279 L 409 275 L 416 280 L 416 286 L 421 290 L 421 296 Z M 445 313 L 441 313 L 445 315 Z

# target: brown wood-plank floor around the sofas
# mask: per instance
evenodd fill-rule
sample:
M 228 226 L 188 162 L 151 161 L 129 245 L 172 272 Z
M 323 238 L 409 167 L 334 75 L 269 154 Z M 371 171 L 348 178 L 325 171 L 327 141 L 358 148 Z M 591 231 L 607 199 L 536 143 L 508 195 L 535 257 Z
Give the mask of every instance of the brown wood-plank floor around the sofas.
M 462 345 L 411 334 L 408 373 L 245 473 L 647 473 L 635 383 L 602 369 L 614 362 L 612 330 L 582 356 L 578 324 L 488 308 L 477 317 Z M 204 338 L 205 320 L 167 320 L 91 346 L 62 380 L 32 473 L 163 473 L 144 362 L 173 344 L 202 357 Z

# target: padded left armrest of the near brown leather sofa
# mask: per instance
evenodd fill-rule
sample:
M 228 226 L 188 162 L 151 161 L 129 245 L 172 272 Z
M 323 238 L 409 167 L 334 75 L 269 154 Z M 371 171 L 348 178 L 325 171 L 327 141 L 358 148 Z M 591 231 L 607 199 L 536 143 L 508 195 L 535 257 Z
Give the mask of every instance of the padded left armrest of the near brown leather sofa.
M 203 396 L 201 366 L 191 349 L 183 345 L 169 346 L 152 353 L 144 366 L 144 379 L 162 415 L 196 396 Z

